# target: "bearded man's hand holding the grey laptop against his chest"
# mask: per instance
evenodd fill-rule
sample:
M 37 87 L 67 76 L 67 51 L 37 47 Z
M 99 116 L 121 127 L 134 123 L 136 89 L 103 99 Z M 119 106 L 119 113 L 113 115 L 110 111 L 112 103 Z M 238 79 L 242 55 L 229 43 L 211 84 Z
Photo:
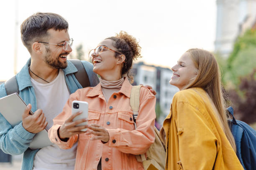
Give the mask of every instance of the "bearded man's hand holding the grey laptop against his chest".
M 31 104 L 28 104 L 22 115 L 22 125 L 30 133 L 38 133 L 46 128 L 48 122 L 41 109 L 36 110 L 33 115 L 29 114 Z

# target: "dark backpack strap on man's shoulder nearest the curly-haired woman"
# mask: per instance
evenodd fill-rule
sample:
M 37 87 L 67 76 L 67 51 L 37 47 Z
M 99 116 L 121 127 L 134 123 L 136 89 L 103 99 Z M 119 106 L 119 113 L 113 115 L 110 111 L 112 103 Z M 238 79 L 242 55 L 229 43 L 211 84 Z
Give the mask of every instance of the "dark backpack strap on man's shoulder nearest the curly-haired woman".
M 84 65 L 80 60 L 77 59 L 69 59 L 75 67 L 77 67 L 77 72 L 74 73 L 74 76 L 77 78 L 77 81 L 82 85 L 82 87 L 90 87 L 90 80 L 87 75 L 86 70 L 84 69 Z

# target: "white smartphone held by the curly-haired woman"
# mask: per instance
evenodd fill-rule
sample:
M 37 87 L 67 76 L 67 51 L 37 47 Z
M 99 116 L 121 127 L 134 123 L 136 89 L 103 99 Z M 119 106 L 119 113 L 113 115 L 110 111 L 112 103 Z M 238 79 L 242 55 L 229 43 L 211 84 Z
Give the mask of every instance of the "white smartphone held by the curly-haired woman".
M 79 112 L 79 111 L 82 111 L 82 114 L 74 117 L 73 121 L 84 119 L 84 118 L 88 117 L 88 103 L 83 102 L 83 101 L 74 100 L 72 102 L 72 114 Z M 82 122 L 82 123 L 78 124 L 77 126 L 83 126 L 83 125 L 87 125 L 87 122 Z M 82 131 L 86 131 L 86 130 L 87 130 L 87 128 L 82 129 Z

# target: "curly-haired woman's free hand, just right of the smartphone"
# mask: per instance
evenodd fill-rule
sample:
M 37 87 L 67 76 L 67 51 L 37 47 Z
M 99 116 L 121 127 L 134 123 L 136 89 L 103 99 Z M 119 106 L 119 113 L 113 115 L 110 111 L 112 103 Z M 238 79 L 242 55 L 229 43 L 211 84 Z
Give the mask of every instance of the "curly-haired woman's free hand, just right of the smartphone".
M 105 143 L 109 141 L 108 130 L 106 130 L 102 126 L 91 124 L 88 126 L 88 128 L 90 130 L 87 130 L 86 135 L 90 135 L 90 134 L 95 135 L 94 137 L 91 138 L 91 140 L 101 140 Z

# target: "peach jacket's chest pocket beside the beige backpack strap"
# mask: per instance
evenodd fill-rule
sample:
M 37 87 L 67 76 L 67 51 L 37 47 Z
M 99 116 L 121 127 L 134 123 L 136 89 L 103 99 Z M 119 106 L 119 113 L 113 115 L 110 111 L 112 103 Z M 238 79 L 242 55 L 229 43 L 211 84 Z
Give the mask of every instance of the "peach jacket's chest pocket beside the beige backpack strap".
M 118 121 L 120 122 L 118 128 L 125 130 L 135 130 L 133 122 L 133 113 L 131 112 L 118 112 Z

